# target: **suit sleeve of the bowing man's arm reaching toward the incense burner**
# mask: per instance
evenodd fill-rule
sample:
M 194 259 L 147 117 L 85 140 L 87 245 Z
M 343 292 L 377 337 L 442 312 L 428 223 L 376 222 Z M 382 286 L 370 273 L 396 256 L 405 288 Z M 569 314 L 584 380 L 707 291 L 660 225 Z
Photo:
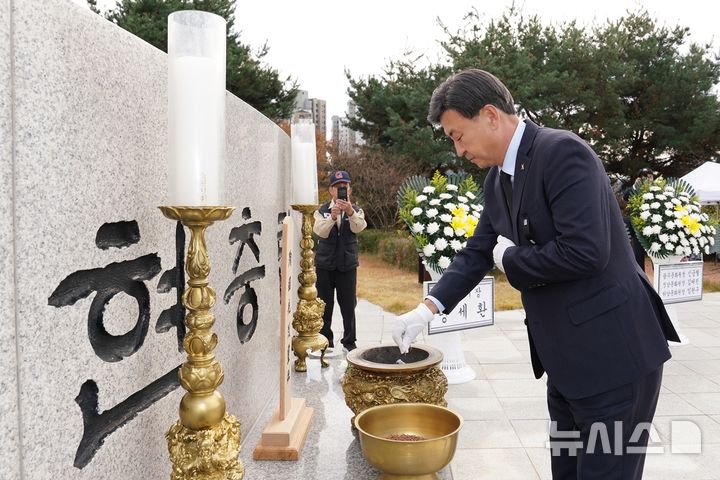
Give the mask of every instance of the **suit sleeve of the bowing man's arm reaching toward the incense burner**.
M 497 242 L 497 233 L 487 215 L 480 215 L 475 233 L 468 238 L 465 248 L 453 258 L 440 281 L 429 292 L 451 312 L 455 306 L 480 283 L 493 266 L 492 249 Z

